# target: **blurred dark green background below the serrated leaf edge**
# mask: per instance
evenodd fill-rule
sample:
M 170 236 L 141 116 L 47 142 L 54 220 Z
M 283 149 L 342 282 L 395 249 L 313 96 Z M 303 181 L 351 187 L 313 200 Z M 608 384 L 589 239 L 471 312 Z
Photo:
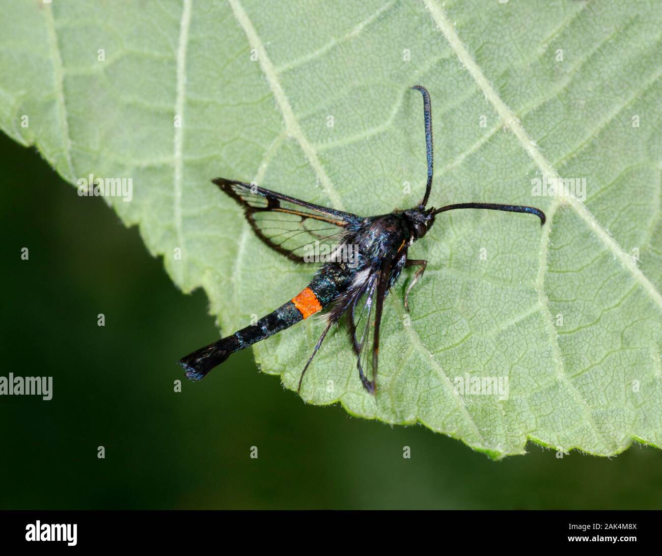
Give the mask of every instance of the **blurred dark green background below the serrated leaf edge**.
M 493 462 L 421 426 L 306 406 L 250 351 L 174 393 L 175 361 L 218 334 L 204 293 L 177 291 L 136 228 L 33 149 L 0 148 L 0 374 L 54 377 L 50 402 L 0 397 L 0 508 L 662 507 L 656 449 L 557 459 L 530 444 Z

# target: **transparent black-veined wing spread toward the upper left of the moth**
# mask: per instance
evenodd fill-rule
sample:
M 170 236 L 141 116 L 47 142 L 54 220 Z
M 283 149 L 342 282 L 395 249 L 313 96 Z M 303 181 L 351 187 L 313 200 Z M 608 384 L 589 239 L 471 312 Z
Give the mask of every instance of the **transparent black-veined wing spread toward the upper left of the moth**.
M 214 183 L 244 208 L 258 237 L 273 250 L 297 262 L 323 262 L 342 244 L 350 224 L 361 218 L 268 189 L 236 181 Z

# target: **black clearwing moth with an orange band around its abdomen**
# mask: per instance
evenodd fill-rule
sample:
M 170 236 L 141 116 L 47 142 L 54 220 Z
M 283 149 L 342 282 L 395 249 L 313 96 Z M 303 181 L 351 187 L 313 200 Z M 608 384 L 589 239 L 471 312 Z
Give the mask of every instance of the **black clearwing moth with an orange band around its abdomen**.
M 347 257 L 330 257 L 331 260 L 318 269 L 307 287 L 290 301 L 263 316 L 255 324 L 183 357 L 179 365 L 184 368 L 189 379 L 202 379 L 235 351 L 248 348 L 324 310 L 326 326 L 301 371 L 297 391 L 301 391 L 308 365 L 322 346 L 331 326 L 346 315 L 359 378 L 363 387 L 374 394 L 377 390 L 379 329 L 384 299 L 398 281 L 403 268 L 417 267 L 404 295 L 404 307 L 409 310 L 409 293 L 422 277 L 428 261 L 408 258 L 408 248 L 425 236 L 437 214 L 456 208 L 486 208 L 528 212 L 540 218 L 541 226 L 545 224 L 545 214 L 540 208 L 522 205 L 457 203 L 442 208 L 427 208 L 434 168 L 430 94 L 421 85 L 412 89 L 423 95 L 428 160 L 425 195 L 414 208 L 364 217 L 313 205 L 242 181 L 222 177 L 213 180 L 223 193 L 244 209 L 244 216 L 258 238 L 291 261 L 307 262 L 305 250 L 315 242 L 332 246 L 332 254 L 346 254 L 351 250 L 354 259 L 350 263 Z

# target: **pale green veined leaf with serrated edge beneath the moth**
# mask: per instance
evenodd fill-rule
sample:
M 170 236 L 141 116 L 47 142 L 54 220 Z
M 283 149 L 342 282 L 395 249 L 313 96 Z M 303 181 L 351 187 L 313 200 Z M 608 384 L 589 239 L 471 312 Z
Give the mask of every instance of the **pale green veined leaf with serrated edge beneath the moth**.
M 205 289 L 225 335 L 312 270 L 256 240 L 210 179 L 362 215 L 410 207 L 425 152 L 409 87 L 425 85 L 431 203 L 535 205 L 547 224 L 440 215 L 410 250 L 430 261 L 410 326 L 411 273 L 387 301 L 377 396 L 340 330 L 303 399 L 492 457 L 528 439 L 611 455 L 662 445 L 661 20 L 620 0 L 7 2 L 0 126 L 71 183 L 131 177 L 132 201 L 109 203 L 183 291 Z M 586 198 L 535 196 L 543 177 L 586 179 Z M 295 389 L 321 330 L 311 318 L 257 344 L 262 371 Z M 460 393 L 467 376 L 507 377 L 507 398 Z

